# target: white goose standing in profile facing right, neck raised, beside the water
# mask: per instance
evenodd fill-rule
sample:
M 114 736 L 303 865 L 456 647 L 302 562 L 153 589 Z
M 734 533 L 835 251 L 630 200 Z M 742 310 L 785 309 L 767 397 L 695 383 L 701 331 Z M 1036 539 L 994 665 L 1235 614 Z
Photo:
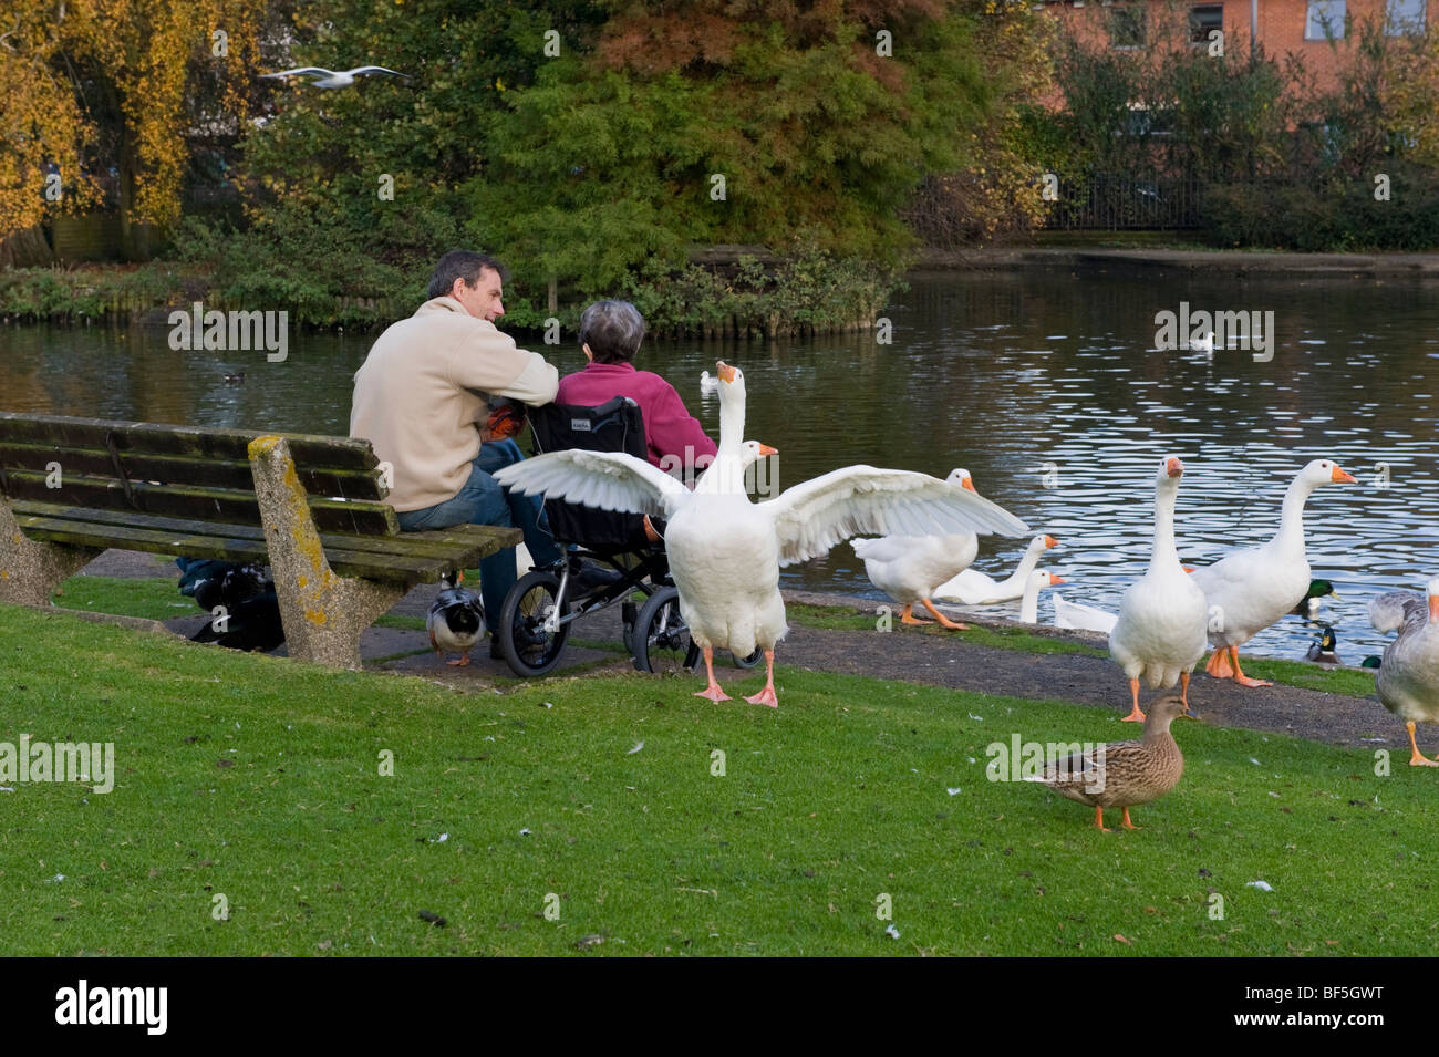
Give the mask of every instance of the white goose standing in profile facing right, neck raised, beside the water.
M 1321 485 L 1354 483 L 1328 459 L 1299 470 L 1284 493 L 1279 531 L 1262 546 L 1232 551 L 1213 565 L 1194 569 L 1193 581 L 1209 598 L 1209 641 L 1215 647 L 1204 670 L 1240 686 L 1269 686 L 1239 667 L 1239 647 L 1289 613 L 1308 594 L 1309 559 L 1304 554 L 1304 503 Z

